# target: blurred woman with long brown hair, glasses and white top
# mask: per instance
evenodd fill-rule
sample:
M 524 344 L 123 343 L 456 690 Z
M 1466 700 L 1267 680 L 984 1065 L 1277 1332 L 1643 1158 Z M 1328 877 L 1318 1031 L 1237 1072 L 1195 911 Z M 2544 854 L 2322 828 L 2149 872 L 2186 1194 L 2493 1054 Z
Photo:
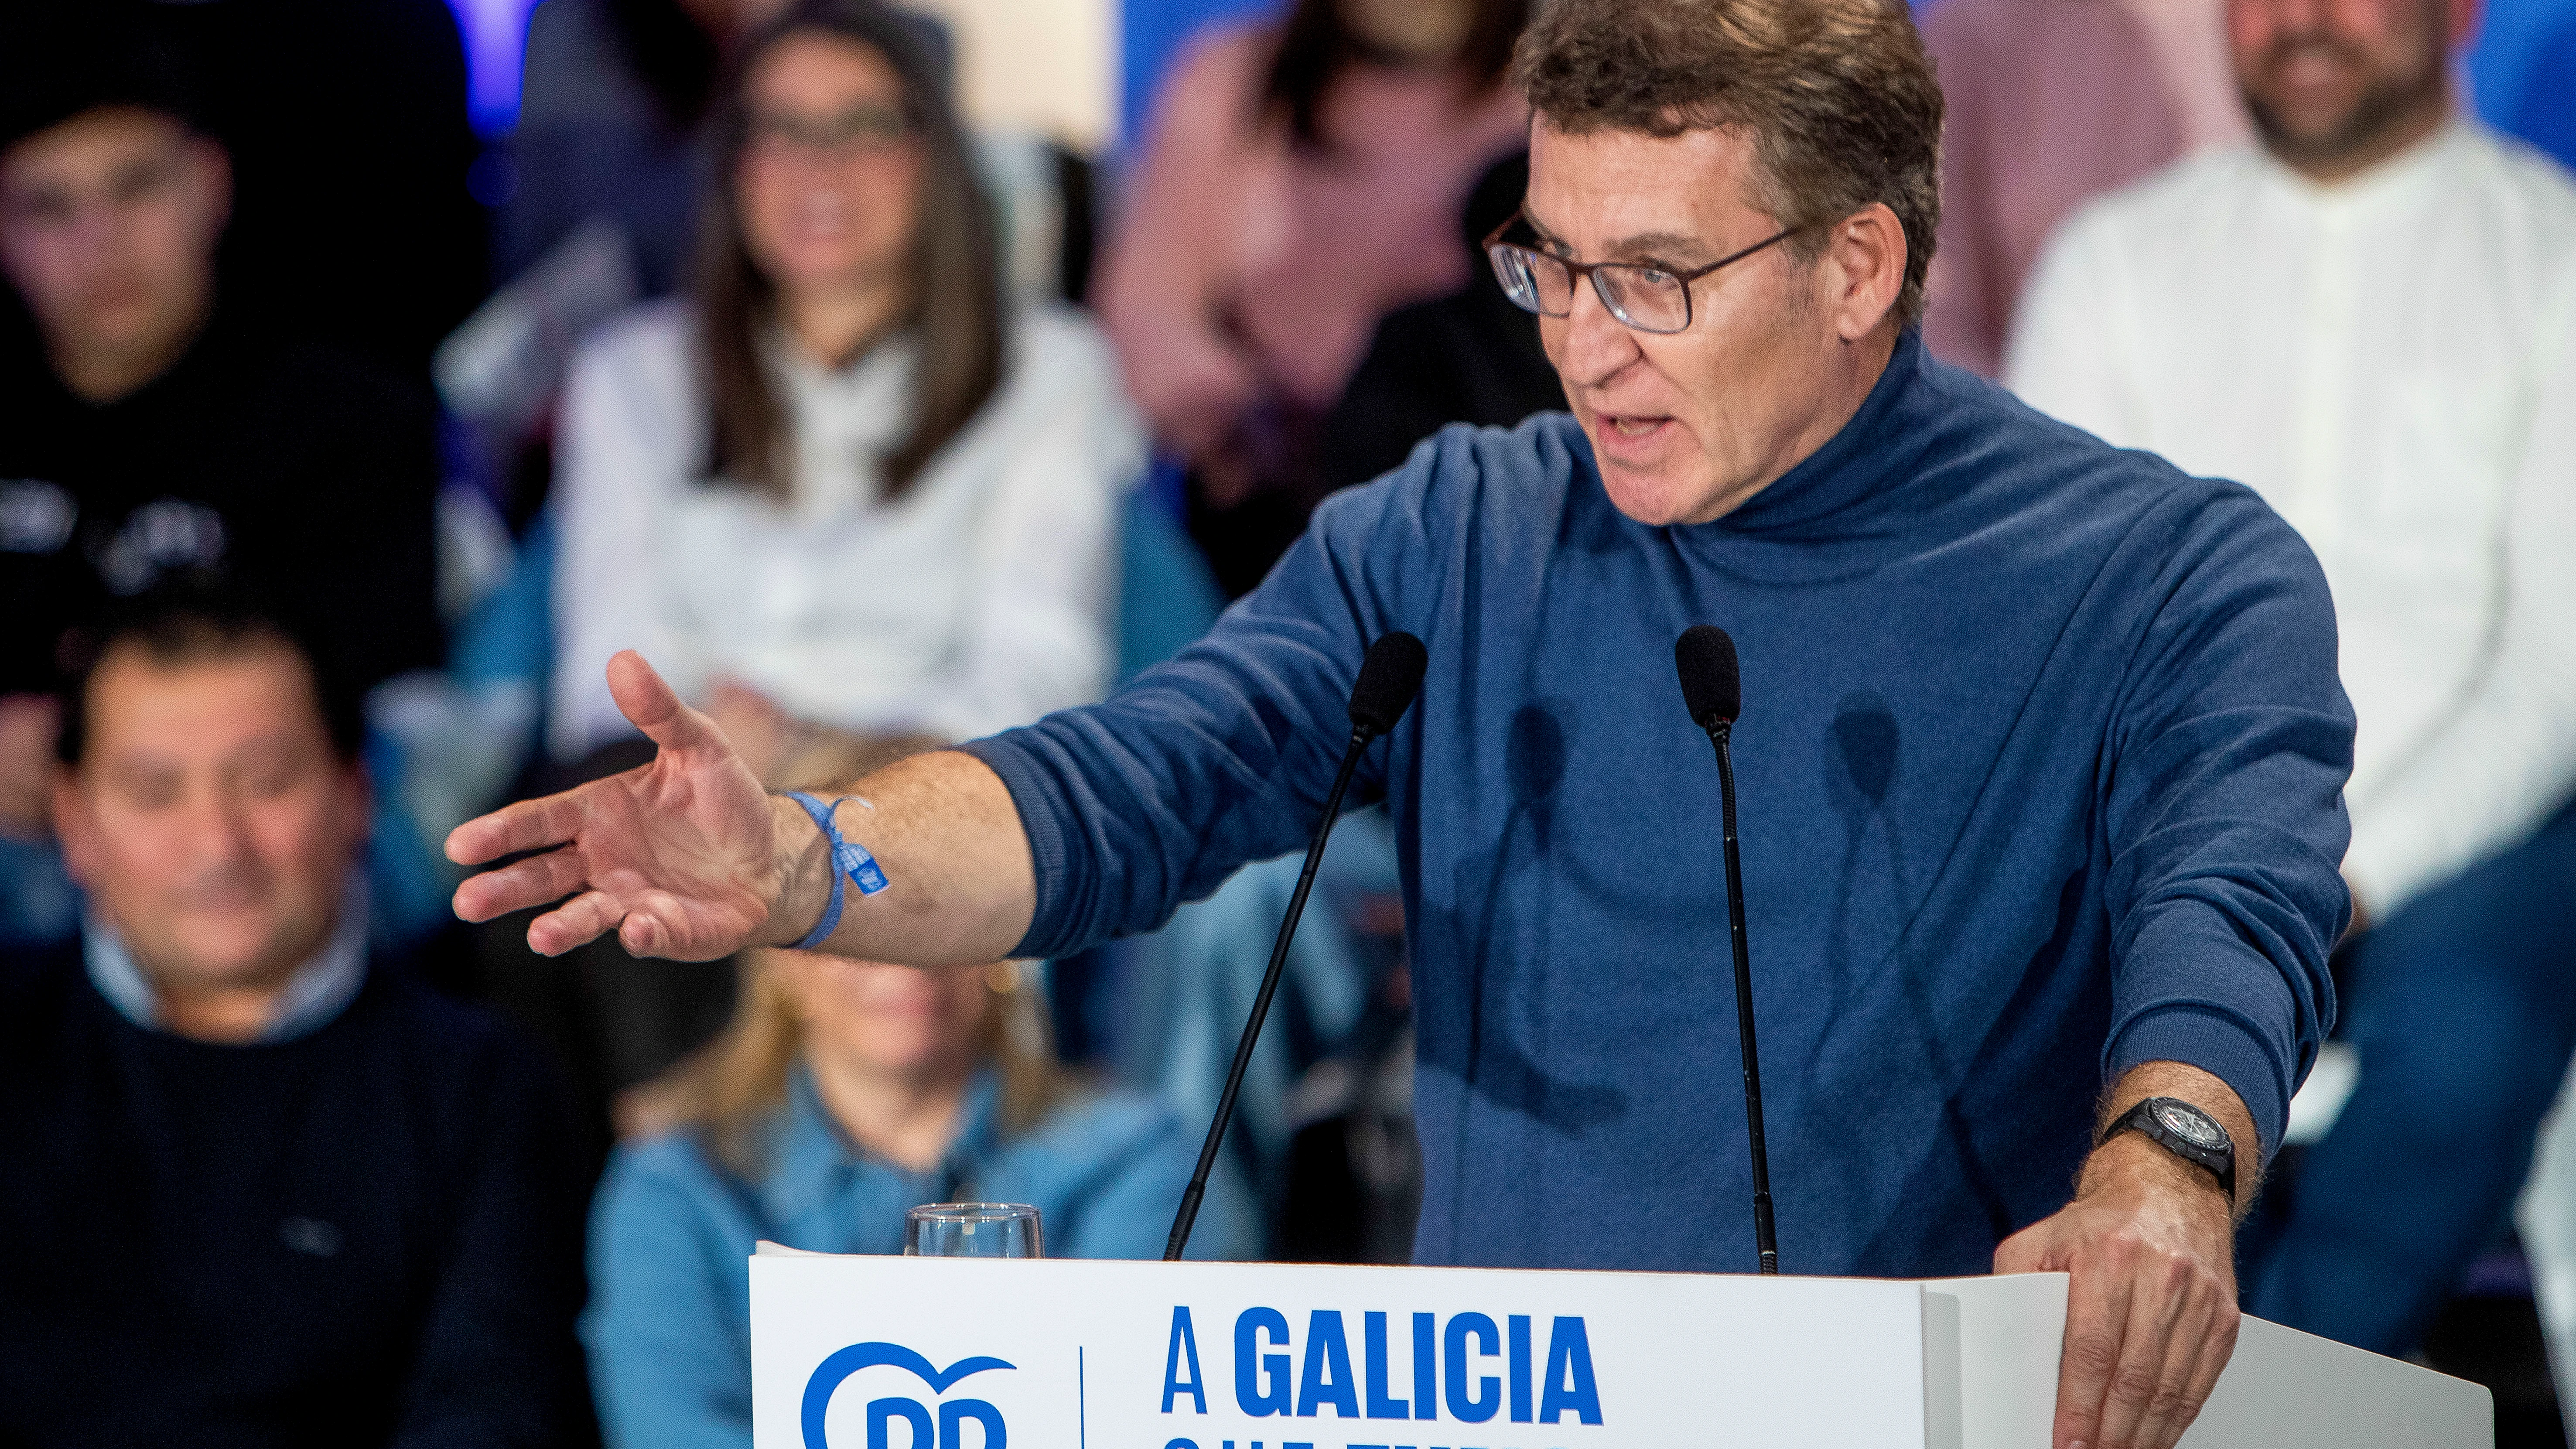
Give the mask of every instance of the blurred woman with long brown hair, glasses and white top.
M 1005 315 L 917 28 L 788 5 L 716 137 L 693 297 L 605 327 L 567 387 L 556 758 L 631 735 L 626 647 L 773 781 L 1100 696 L 1144 436 L 1084 320 Z

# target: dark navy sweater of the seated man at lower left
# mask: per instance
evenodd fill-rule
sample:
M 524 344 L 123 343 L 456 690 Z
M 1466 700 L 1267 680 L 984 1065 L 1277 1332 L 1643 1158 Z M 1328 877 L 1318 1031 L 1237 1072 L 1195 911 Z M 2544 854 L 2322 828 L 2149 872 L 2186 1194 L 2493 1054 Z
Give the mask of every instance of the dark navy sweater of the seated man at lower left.
M 222 1047 L 0 957 L 0 1444 L 577 1444 L 582 1189 L 536 1047 L 399 967 Z

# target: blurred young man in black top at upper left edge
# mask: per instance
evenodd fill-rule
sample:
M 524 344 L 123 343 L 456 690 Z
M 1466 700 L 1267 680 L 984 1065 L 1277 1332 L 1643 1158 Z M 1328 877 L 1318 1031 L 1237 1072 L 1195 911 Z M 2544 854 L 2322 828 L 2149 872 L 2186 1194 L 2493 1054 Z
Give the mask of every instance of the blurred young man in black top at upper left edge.
M 361 683 L 438 665 L 438 443 L 425 394 L 216 286 L 232 157 L 139 23 L 13 18 L 0 54 L 0 835 L 28 838 L 59 663 L 111 598 L 224 572 Z

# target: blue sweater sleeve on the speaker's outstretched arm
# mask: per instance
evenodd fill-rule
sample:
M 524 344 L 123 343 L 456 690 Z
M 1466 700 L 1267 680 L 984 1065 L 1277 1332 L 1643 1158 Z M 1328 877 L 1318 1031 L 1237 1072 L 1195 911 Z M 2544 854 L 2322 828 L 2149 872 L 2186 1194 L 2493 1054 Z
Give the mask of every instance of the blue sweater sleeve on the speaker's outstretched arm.
M 1461 516 L 1443 495 L 1473 487 L 1504 438 L 1450 428 L 1337 492 L 1206 639 L 1105 704 L 966 745 L 1010 786 L 1038 871 L 1015 957 L 1154 931 L 1236 866 L 1306 843 L 1350 743 L 1360 655 L 1388 629 L 1425 629 L 1404 614 L 1406 572 L 1440 557 L 1435 521 Z M 1419 714 L 1394 745 L 1412 730 Z M 1345 810 L 1381 797 L 1386 758 L 1360 761 Z

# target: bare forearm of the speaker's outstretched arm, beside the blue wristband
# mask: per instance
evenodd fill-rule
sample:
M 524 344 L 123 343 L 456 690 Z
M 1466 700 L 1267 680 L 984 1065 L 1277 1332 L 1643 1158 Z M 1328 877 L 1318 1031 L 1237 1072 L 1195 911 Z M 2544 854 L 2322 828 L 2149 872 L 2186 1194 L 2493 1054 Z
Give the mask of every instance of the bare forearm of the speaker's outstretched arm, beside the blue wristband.
M 886 890 L 860 895 L 842 882 L 840 926 L 819 949 L 948 967 L 999 962 L 1028 936 L 1038 908 L 1036 864 L 1020 810 L 984 761 L 958 750 L 912 755 L 837 794 L 858 797 L 832 820 L 845 841 L 876 856 Z M 783 887 L 760 944 L 791 946 L 829 908 L 832 864 L 801 804 L 775 797 L 770 810 Z

